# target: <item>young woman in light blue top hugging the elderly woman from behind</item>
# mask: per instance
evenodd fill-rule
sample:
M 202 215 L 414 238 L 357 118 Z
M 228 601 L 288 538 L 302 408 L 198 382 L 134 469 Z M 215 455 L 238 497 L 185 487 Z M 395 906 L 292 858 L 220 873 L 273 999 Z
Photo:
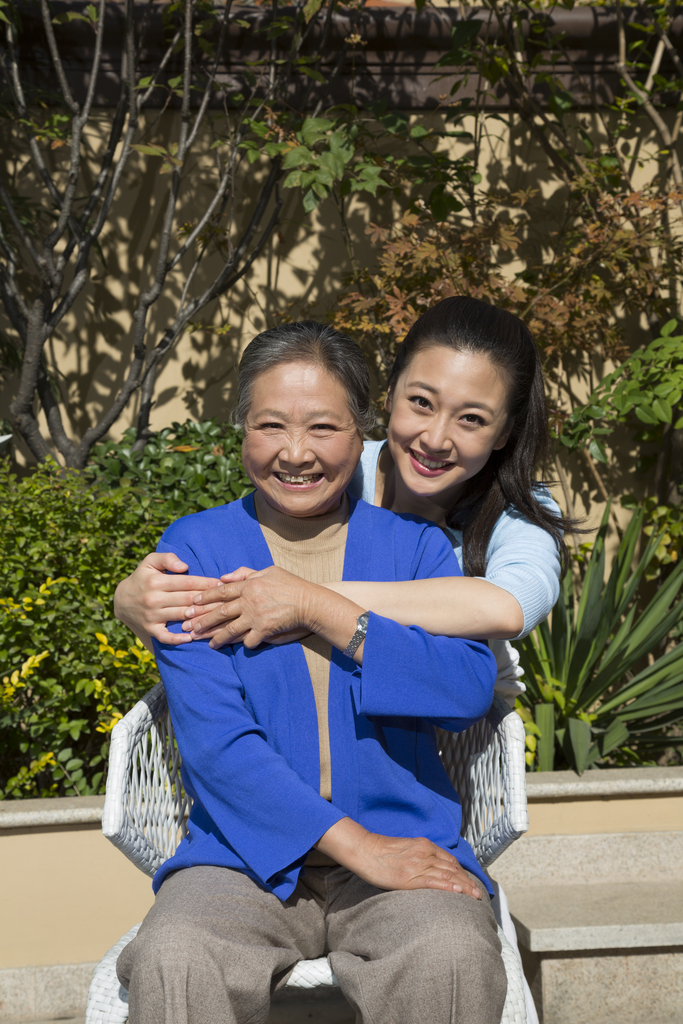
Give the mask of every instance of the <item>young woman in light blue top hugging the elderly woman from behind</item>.
M 476 299 L 443 299 L 402 342 L 390 375 L 386 441 L 365 441 L 349 493 L 437 523 L 465 577 L 404 583 L 328 584 L 402 625 L 489 639 L 496 688 L 509 702 L 523 690 L 510 638 L 547 617 L 559 592 L 563 521 L 535 482 L 548 444 L 541 361 L 526 327 Z M 302 463 L 301 475 L 306 476 Z M 304 484 L 302 484 L 304 485 Z M 172 554 L 148 555 L 120 584 L 116 612 L 145 642 L 233 636 L 244 573 L 218 580 L 184 573 Z M 182 618 L 184 633 L 166 623 Z M 516 944 L 501 891 L 495 910 Z M 527 1016 L 536 1013 L 527 993 Z

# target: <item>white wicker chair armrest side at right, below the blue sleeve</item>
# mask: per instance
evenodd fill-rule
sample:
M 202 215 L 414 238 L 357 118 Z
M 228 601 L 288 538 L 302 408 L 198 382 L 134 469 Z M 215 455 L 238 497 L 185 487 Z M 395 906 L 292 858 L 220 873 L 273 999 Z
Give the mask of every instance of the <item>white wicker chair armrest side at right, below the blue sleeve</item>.
M 528 829 L 524 725 L 498 695 L 464 732 L 437 729 L 439 753 L 463 806 L 463 835 L 483 867 Z

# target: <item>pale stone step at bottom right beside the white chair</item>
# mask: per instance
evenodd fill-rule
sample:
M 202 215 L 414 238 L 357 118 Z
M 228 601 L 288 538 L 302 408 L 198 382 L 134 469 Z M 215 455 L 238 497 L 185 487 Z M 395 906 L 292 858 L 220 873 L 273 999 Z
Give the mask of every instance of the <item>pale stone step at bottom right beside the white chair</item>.
M 582 869 L 574 863 L 565 877 Z M 506 887 L 542 1024 L 681 1024 L 683 879 L 653 882 L 643 862 L 637 880 L 613 882 L 607 865 L 604 873 L 602 884 Z

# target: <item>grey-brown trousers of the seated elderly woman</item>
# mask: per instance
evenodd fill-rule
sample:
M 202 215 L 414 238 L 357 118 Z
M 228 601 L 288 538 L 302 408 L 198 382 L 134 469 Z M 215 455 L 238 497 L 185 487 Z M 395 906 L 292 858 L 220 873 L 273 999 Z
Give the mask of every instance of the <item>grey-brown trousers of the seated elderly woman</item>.
M 284 903 L 226 867 L 176 871 L 117 971 L 130 1024 L 265 1024 L 297 961 L 327 954 L 362 1024 L 500 1024 L 485 892 L 387 892 L 344 867 L 306 868 Z

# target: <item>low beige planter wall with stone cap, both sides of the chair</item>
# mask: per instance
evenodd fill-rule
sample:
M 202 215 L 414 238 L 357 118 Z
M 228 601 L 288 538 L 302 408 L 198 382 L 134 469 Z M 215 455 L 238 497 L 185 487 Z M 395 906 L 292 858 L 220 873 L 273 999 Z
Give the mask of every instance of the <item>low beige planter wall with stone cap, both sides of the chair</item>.
M 608 779 L 611 793 L 595 792 Z M 529 831 L 520 851 L 539 836 L 683 828 L 683 769 L 530 774 L 527 786 Z M 97 961 L 152 905 L 151 880 L 99 831 L 102 804 L 101 797 L 0 804 L 0 970 Z M 70 821 L 77 812 L 91 820 Z M 57 814 L 60 823 L 47 823 Z M 22 816 L 33 824 L 7 827 Z

